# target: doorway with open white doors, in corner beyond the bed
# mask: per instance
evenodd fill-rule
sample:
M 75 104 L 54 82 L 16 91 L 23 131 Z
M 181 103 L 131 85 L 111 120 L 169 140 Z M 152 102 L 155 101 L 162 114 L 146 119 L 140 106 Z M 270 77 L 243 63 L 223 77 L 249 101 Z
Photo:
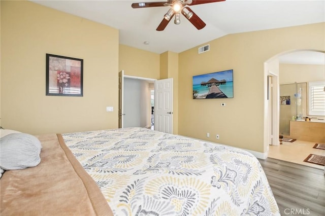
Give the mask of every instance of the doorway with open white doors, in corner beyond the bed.
M 145 127 L 173 133 L 173 78 L 125 76 L 121 70 L 118 115 L 119 128 Z

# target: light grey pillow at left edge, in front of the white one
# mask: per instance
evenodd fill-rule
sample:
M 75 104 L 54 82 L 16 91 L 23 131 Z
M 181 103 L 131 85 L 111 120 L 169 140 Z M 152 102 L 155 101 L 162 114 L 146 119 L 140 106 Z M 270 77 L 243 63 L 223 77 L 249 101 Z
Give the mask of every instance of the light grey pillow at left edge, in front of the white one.
M 24 169 L 41 162 L 38 138 L 27 133 L 11 133 L 0 139 L 0 168 Z

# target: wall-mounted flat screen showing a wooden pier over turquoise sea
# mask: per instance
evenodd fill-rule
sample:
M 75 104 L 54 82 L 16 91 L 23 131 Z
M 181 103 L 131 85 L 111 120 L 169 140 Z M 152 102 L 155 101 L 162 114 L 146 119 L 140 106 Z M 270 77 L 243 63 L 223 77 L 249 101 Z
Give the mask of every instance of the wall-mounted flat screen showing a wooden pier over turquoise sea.
M 193 76 L 193 99 L 233 98 L 233 70 Z

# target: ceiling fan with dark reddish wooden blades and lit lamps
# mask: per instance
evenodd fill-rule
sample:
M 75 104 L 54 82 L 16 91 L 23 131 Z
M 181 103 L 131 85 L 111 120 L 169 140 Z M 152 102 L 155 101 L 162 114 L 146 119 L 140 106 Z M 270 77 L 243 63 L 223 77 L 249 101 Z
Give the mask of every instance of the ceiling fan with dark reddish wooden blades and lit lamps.
M 162 31 L 166 28 L 169 21 L 175 15 L 175 24 L 180 23 L 180 14 L 183 14 L 188 21 L 190 21 L 197 29 L 202 29 L 206 24 L 194 13 L 189 7 L 192 5 L 200 5 L 214 2 L 223 2 L 225 0 L 168 0 L 167 2 L 144 2 L 144 3 L 133 3 L 132 8 L 151 8 L 151 7 L 164 7 L 170 6 L 171 9 L 164 15 L 163 21 L 157 27 L 157 31 Z

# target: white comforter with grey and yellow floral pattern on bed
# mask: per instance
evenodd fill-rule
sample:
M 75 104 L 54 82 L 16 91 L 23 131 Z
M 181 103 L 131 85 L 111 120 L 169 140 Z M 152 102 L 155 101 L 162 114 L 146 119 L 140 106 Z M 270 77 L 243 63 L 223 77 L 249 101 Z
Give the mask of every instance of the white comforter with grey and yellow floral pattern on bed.
M 145 128 L 62 136 L 114 215 L 280 215 L 246 151 Z

